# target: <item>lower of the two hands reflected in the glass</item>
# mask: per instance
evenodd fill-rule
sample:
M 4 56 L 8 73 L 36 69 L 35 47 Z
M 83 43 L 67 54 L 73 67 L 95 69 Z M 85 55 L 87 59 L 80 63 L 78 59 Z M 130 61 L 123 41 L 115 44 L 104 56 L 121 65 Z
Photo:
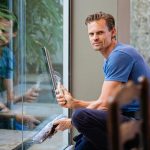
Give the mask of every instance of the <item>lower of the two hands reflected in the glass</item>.
M 16 114 L 16 120 L 21 123 L 23 121 L 23 124 L 27 125 L 30 129 L 33 129 L 40 124 L 38 119 L 30 115 Z

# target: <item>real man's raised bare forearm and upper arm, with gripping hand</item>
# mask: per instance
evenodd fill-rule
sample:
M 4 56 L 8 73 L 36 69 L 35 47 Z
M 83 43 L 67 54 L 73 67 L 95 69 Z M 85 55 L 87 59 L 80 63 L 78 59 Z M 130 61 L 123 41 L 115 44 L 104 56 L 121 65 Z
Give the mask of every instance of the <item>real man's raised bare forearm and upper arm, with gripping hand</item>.
M 58 93 L 56 95 L 56 98 L 58 104 L 65 108 L 89 108 L 105 110 L 108 108 L 108 98 L 113 94 L 115 88 L 121 84 L 122 83 L 118 81 L 104 81 L 102 86 L 102 92 L 97 101 L 77 100 L 73 98 L 66 89 L 63 90 L 63 94 L 60 94 L 59 91 L 56 90 L 56 93 Z M 67 101 L 67 103 L 65 101 Z

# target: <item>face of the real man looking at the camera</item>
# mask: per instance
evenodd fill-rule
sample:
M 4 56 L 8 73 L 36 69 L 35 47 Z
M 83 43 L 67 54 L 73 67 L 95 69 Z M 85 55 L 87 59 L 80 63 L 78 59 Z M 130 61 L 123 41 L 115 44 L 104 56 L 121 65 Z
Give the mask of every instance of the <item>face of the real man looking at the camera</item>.
M 112 43 L 114 31 L 109 31 L 104 19 L 88 23 L 88 35 L 93 49 L 97 51 L 107 50 Z

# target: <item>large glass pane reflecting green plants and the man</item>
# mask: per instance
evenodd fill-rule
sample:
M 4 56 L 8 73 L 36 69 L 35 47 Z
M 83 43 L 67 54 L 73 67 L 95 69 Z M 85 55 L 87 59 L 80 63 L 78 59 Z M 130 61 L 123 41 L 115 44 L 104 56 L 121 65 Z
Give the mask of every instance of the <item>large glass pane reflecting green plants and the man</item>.
M 64 110 L 56 102 L 52 78 L 43 54 L 43 47 L 45 47 L 50 54 L 55 79 L 64 83 L 64 2 L 62 0 L 3 0 L 1 5 L 16 14 L 12 16 L 13 21 L 10 22 L 10 26 L 14 25 L 14 20 L 17 20 L 16 24 L 18 24 L 18 30 L 15 32 L 10 27 L 11 38 L 6 45 L 13 54 L 10 63 L 13 66 L 10 70 L 12 76 L 7 79 L 11 82 L 4 90 L 0 86 L 0 100 L 2 99 L 0 104 L 5 104 L 4 106 L 9 109 L 5 114 L 0 109 L 0 116 L 7 116 L 0 117 L 0 120 L 3 119 L 0 122 L 0 132 L 4 134 L 7 132 L 5 135 L 10 141 L 9 144 L 7 138 L 3 140 L 7 147 L 2 144 L 6 149 L 62 149 L 68 144 L 66 142 L 68 139 L 63 132 L 56 133 L 50 139 L 43 138 L 39 143 L 34 139 L 48 123 L 64 114 Z M 3 31 L 2 23 L 0 30 Z M 1 39 L 5 38 L 1 35 L 0 32 Z M 3 82 L 1 74 L 0 77 L 0 81 Z M 0 143 L 0 149 L 2 144 Z

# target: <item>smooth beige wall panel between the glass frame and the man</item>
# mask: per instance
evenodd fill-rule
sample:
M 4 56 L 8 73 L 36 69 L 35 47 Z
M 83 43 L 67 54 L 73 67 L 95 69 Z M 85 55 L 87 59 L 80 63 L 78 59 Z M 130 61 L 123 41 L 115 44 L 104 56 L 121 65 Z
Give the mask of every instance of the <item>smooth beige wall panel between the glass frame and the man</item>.
M 103 82 L 103 58 L 91 48 L 84 24 L 99 11 L 117 19 L 117 0 L 72 0 L 72 93 L 84 100 L 97 99 Z

